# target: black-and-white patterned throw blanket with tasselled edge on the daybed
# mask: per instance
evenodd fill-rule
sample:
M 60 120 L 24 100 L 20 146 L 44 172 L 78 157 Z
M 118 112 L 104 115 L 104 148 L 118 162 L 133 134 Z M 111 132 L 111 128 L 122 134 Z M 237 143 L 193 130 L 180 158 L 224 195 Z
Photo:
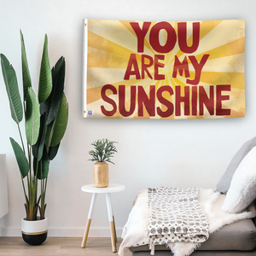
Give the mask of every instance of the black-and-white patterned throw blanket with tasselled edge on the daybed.
M 209 224 L 198 195 L 198 188 L 148 188 L 148 235 L 152 246 L 208 239 Z

